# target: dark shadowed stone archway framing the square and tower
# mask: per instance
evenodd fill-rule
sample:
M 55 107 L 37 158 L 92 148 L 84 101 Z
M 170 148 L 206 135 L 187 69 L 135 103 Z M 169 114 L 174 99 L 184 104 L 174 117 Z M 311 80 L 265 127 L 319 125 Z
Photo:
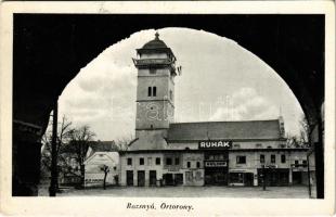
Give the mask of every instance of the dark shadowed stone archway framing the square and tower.
M 203 29 L 238 42 L 286 81 L 313 127 L 322 123 L 324 15 L 14 14 L 13 195 L 36 193 L 39 139 L 80 68 L 131 34 L 163 27 Z

